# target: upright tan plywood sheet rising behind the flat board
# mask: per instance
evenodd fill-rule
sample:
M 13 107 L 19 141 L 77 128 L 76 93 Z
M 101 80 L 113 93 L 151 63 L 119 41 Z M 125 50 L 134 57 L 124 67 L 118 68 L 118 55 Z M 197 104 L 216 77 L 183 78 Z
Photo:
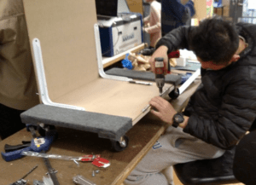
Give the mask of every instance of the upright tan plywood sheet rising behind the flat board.
M 23 2 L 30 42 L 41 43 L 50 99 L 98 78 L 95 1 Z

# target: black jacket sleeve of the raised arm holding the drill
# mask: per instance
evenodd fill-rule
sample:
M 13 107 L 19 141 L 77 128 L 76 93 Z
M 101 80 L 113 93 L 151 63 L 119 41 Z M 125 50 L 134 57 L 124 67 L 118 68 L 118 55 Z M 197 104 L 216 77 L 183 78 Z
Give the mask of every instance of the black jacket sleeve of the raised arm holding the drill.
M 155 48 L 165 45 L 168 53 L 177 49 L 189 49 L 189 34 L 193 29 L 194 26 L 179 26 L 161 38 Z

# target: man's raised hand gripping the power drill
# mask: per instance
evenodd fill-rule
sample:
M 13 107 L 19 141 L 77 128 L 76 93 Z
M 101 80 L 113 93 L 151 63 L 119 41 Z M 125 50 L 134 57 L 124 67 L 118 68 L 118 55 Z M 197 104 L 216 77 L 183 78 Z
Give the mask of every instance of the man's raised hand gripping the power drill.
M 168 48 L 166 46 L 160 46 L 158 49 L 156 49 L 154 51 L 154 54 L 151 56 L 151 58 L 149 59 L 149 64 L 151 66 L 151 71 L 155 73 L 155 70 L 154 70 L 154 58 L 156 57 L 162 57 L 164 58 L 164 62 L 165 62 L 165 70 L 164 70 L 164 74 L 166 75 L 167 72 L 168 72 L 168 55 L 167 55 L 167 51 L 168 51 Z

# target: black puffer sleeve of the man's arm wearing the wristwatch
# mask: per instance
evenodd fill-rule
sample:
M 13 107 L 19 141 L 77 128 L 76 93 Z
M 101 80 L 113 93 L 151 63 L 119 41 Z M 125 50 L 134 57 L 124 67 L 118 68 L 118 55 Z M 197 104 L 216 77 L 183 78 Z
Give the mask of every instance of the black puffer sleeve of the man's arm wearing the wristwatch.
M 216 118 L 203 117 L 193 110 L 183 131 L 224 149 L 236 145 L 256 119 L 256 72 L 247 69 L 242 73 L 226 86 Z M 195 101 L 193 104 L 196 110 L 204 110 Z

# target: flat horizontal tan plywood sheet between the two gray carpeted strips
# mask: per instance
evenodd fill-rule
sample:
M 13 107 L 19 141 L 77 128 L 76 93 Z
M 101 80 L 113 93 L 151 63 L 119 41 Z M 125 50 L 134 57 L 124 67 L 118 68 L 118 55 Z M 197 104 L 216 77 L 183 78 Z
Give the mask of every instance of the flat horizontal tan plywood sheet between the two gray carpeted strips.
M 164 90 L 168 88 L 172 90 L 173 85 L 166 84 Z M 98 78 L 54 101 L 84 107 L 86 111 L 94 113 L 129 117 L 136 124 L 137 119 L 143 115 L 143 108 L 156 95 L 159 95 L 156 84 L 130 84 Z

